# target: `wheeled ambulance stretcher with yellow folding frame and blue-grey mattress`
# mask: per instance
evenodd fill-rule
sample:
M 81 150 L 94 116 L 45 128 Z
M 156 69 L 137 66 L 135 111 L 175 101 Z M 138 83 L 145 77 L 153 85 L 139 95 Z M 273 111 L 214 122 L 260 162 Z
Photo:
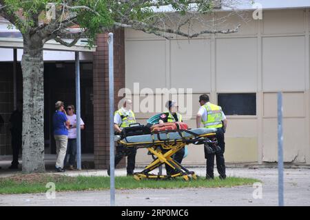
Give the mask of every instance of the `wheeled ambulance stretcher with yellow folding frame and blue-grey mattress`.
M 211 148 L 216 148 L 216 129 L 214 128 L 196 128 L 192 130 L 165 130 L 155 134 L 143 134 L 125 137 L 116 137 L 116 141 L 126 148 L 147 148 L 152 154 L 154 161 L 141 172 L 134 173 L 134 179 L 165 179 L 172 177 L 183 177 L 188 181 L 190 177 L 197 179 L 193 171 L 187 170 L 172 158 L 172 155 L 184 148 L 189 143 L 195 145 L 205 144 Z M 166 163 L 174 169 L 174 174 L 152 174 L 152 170 Z

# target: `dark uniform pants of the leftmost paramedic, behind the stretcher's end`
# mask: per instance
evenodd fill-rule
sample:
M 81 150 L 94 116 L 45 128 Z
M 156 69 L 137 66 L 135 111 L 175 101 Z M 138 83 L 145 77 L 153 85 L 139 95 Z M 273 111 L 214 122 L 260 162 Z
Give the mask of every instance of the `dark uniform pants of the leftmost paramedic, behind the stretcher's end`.
M 136 164 L 136 148 L 125 148 L 123 146 L 116 146 L 116 156 L 114 166 L 127 157 L 127 174 L 134 174 L 134 167 Z

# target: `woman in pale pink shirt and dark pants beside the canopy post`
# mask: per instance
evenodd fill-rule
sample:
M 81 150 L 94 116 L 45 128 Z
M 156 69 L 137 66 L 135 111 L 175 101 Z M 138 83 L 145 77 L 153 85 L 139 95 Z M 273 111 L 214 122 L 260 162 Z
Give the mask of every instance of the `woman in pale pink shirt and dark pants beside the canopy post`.
M 67 153 L 65 154 L 65 166 L 68 163 L 69 157 L 69 170 L 74 170 L 75 159 L 76 159 L 76 114 L 73 105 L 69 105 L 67 107 L 67 117 L 70 121 L 70 126 L 68 130 L 68 145 L 67 145 Z M 84 129 L 84 122 L 81 119 L 81 130 Z

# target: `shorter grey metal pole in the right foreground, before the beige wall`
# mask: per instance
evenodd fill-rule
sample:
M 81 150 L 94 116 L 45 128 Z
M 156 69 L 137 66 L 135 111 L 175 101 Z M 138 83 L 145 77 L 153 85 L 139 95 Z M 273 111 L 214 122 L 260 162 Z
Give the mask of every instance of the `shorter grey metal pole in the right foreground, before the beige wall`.
M 278 92 L 278 200 L 284 206 L 283 199 L 283 127 L 282 127 L 282 92 Z

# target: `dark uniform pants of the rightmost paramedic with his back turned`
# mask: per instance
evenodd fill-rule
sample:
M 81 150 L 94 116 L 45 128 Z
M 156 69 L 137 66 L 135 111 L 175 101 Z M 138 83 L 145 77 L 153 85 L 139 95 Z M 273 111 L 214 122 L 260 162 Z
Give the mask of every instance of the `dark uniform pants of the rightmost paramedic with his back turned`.
M 207 154 L 205 148 L 205 159 L 207 159 L 207 178 L 214 178 L 214 157 L 216 157 L 216 168 L 218 169 L 218 174 L 220 177 L 226 177 L 226 169 L 225 169 L 225 141 L 224 141 L 224 132 L 222 128 L 218 128 L 216 131 L 216 139 L 218 139 L 218 146 L 220 147 L 220 151 Z

